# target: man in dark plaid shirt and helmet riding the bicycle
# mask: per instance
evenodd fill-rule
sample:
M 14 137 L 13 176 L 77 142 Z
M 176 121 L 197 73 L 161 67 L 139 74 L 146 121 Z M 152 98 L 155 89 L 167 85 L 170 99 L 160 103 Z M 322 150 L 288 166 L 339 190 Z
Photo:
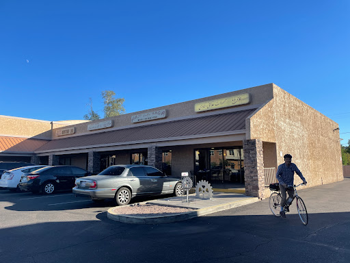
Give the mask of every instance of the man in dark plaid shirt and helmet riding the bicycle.
M 286 204 L 286 192 L 288 192 L 288 197 L 293 199 L 294 190 L 293 188 L 288 188 L 288 186 L 294 185 L 294 172 L 299 175 L 301 180 L 303 180 L 303 184 L 307 184 L 306 179 L 303 174 L 295 164 L 292 163 L 292 155 L 286 154 L 284 155 L 284 164 L 280 164 L 278 166 L 278 170 L 276 173 L 276 177 L 278 182 L 280 183 L 281 190 L 281 211 L 280 215 L 282 217 L 286 217 L 286 213 L 284 212 L 284 205 Z

